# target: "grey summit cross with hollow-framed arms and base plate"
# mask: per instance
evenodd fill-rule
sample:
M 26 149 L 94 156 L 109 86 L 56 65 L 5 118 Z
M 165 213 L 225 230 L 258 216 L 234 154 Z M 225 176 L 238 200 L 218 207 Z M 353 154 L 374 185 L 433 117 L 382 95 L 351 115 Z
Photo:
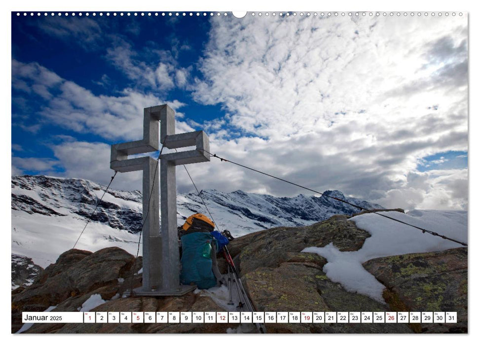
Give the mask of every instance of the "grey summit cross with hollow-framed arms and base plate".
M 156 160 L 149 156 L 128 158 L 158 151 L 158 139 L 170 149 L 196 145 L 193 150 L 160 156 L 161 233 Z M 176 166 L 210 161 L 210 155 L 204 150 L 210 150 L 210 142 L 203 131 L 175 134 L 175 111 L 167 104 L 144 109 L 142 140 L 111 145 L 111 169 L 120 173 L 143 170 L 143 286 L 134 289 L 136 295 L 181 296 L 195 288 L 180 284 Z

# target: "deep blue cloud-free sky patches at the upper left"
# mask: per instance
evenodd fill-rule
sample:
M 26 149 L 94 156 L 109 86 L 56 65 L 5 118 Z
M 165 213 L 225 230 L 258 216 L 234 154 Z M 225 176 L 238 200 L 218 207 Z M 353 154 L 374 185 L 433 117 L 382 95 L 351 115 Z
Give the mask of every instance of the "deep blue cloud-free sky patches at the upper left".
M 121 97 L 125 89 L 131 88 L 164 100 L 182 100 L 182 110 L 189 113 L 188 118 L 192 121 L 202 122 L 222 116 L 224 114 L 220 106 L 197 104 L 184 88 L 172 87 L 167 82 L 158 82 L 156 85 L 143 83 L 142 75 L 139 74 L 139 80 L 135 80 L 125 74 L 129 72 L 115 66 L 115 63 L 120 62 L 115 62 L 111 55 L 124 53 L 127 49 L 135 59 L 152 69 L 161 59 L 160 56 L 175 61 L 175 67 L 194 67 L 207 40 L 209 21 L 196 16 L 183 21 L 181 25 L 178 21 L 171 17 L 109 18 L 99 15 L 31 18 L 17 17 L 13 13 L 12 58 L 25 65 L 37 64 L 48 69 L 89 90 L 96 97 Z M 85 36 L 89 37 L 85 39 Z M 191 69 L 189 77 L 196 75 L 198 71 Z M 53 92 L 58 94 L 61 91 L 53 88 Z M 13 85 L 12 144 L 35 147 L 36 156 L 42 157 L 52 154 L 50 140 L 56 135 L 69 135 L 86 141 L 102 140 L 101 136 L 91 132 L 78 133 L 66 130 L 61 124 L 51 125 L 41 117 L 25 117 L 32 111 L 41 111 L 45 106 L 48 106 L 48 102 L 41 95 Z M 25 126 L 38 124 L 41 124 L 38 130 L 35 127 L 30 131 L 31 135 L 24 135 Z M 38 173 L 29 169 L 26 172 Z

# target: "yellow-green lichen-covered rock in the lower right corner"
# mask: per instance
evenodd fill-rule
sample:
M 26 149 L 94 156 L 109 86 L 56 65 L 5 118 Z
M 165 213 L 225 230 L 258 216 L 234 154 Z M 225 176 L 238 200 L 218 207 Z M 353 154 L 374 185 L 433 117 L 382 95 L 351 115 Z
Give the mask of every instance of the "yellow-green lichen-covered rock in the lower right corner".
M 394 310 L 457 312 L 457 323 L 423 323 L 416 331 L 467 333 L 467 251 L 388 256 L 363 266 L 387 287 L 383 297 Z

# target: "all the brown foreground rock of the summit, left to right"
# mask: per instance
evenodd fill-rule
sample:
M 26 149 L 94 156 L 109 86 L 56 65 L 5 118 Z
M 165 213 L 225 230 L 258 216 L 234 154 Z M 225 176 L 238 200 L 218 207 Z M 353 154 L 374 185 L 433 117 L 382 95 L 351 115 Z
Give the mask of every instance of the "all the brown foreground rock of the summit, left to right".
M 258 311 L 457 311 L 457 324 L 271 323 L 267 333 L 467 333 L 467 249 L 372 259 L 364 267 L 386 289 L 386 304 L 347 291 L 323 271 L 327 260 L 302 253 L 307 246 L 333 243 L 341 251 L 362 247 L 369 233 L 349 216 L 302 227 L 276 227 L 233 240 L 229 250 Z M 71 249 L 41 272 L 35 282 L 12 291 L 12 333 L 22 311 L 225 311 L 207 290 L 182 297 L 121 298 L 141 286 L 141 258 L 118 247 L 89 252 Z M 226 265 L 219 259 L 223 273 Z M 221 323 L 37 323 L 23 333 L 226 333 L 254 332 Z

